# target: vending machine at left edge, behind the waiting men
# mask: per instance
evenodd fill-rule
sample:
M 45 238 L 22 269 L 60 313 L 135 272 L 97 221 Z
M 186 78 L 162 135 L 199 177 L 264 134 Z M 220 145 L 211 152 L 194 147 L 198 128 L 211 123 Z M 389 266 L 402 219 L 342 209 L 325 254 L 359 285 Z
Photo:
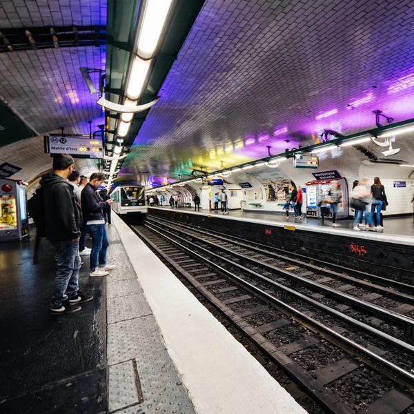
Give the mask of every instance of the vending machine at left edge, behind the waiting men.
M 0 242 L 15 242 L 29 235 L 26 184 L 0 179 Z

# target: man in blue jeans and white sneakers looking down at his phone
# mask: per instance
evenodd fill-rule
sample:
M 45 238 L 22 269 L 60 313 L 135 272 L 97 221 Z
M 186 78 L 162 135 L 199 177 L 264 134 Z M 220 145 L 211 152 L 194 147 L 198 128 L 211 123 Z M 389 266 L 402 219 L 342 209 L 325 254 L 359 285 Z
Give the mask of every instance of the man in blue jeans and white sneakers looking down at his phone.
M 103 208 L 110 206 L 114 200 L 103 201 L 97 193 L 104 179 L 105 175 L 101 172 L 94 172 L 81 195 L 83 217 L 86 220 L 88 231 L 92 234 L 90 277 L 106 276 L 109 273 L 108 270 L 115 268 L 113 264 L 106 264 L 106 249 L 109 242 L 106 237 L 105 218 L 103 217 Z

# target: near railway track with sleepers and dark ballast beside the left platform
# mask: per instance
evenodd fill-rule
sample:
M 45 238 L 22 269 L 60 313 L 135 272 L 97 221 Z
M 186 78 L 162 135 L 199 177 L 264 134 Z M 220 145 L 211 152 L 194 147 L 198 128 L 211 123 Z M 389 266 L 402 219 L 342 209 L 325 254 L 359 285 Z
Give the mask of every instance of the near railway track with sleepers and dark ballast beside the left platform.
M 322 303 L 321 297 L 301 292 L 308 289 L 315 295 L 323 285 L 306 279 L 299 266 L 290 269 L 296 273 L 275 266 L 280 257 L 234 242 L 221 243 L 212 232 L 199 233 L 161 220 L 150 219 L 135 231 L 326 412 L 385 413 L 378 407 L 388 404 L 392 408 L 387 414 L 414 413 L 409 408 L 414 348 L 406 342 L 414 322 L 410 317 L 389 311 L 382 315 L 394 331 L 400 330 L 400 338 L 393 337 L 346 315 L 346 309 L 339 311 Z M 344 299 L 329 286 L 324 293 Z M 394 298 L 408 296 L 395 293 Z M 358 308 L 360 315 L 381 308 L 366 304 L 358 299 L 349 308 Z

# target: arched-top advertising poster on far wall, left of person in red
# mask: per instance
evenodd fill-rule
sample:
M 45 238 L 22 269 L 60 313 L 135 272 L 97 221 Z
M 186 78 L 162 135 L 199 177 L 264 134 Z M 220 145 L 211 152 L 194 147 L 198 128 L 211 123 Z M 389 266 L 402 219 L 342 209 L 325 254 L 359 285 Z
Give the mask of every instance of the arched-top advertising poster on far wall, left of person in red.
M 293 190 L 290 177 L 282 171 L 268 168 L 262 171 L 252 171 L 249 174 L 263 184 L 266 201 L 286 201 L 286 197 Z

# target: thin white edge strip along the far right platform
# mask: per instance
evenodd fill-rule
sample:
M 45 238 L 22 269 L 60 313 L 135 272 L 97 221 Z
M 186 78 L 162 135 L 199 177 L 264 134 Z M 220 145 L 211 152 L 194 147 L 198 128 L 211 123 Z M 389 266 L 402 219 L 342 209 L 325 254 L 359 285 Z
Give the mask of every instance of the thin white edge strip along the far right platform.
M 153 208 L 154 210 L 166 210 L 166 208 L 161 207 L 148 207 L 148 209 Z M 302 224 L 299 222 L 282 222 L 282 221 L 271 221 L 268 219 L 254 219 L 250 217 L 232 217 L 230 215 L 221 216 L 216 215 L 214 213 L 204 213 L 204 212 L 196 212 L 191 211 L 190 208 L 188 210 L 168 210 L 168 211 L 176 211 L 177 213 L 185 213 L 185 214 L 193 214 L 193 215 L 203 215 L 204 217 L 211 216 L 216 219 L 223 219 L 223 220 L 236 220 L 236 221 L 247 221 L 248 223 L 257 223 L 257 224 L 266 224 L 266 226 L 273 226 L 273 227 L 281 227 L 284 226 L 293 226 L 297 228 L 297 230 L 306 230 L 309 232 L 314 233 L 324 233 L 330 235 L 339 235 L 342 237 L 349 237 L 352 236 L 355 239 L 364 239 L 364 240 L 376 240 L 384 243 L 393 243 L 393 244 L 406 244 L 407 246 L 414 246 L 414 237 L 407 236 L 407 235 L 393 235 L 392 233 L 375 233 L 368 230 L 363 231 L 355 231 L 349 228 L 332 228 L 331 226 L 309 226 L 307 224 Z M 248 210 L 247 213 L 254 213 L 254 211 Z M 341 222 L 338 220 L 339 223 Z

